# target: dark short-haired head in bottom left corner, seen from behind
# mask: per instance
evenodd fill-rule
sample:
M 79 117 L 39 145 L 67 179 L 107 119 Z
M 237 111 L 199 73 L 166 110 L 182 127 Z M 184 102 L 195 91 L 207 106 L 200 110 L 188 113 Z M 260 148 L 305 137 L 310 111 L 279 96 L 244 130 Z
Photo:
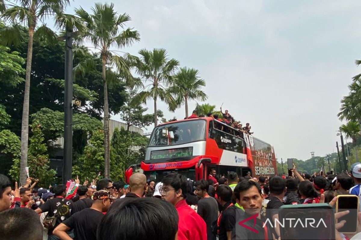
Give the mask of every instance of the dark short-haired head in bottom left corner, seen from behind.
M 29 208 L 8 209 L 0 213 L 0 239 L 42 240 L 39 215 Z

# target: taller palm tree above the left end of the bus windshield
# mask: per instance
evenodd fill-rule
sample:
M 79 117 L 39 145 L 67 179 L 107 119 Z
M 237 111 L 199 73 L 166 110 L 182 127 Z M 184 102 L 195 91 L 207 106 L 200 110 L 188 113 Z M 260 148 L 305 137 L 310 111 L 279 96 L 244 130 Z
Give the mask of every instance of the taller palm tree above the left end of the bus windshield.
M 140 92 L 134 96 L 131 104 L 146 103 L 147 100 L 154 101 L 154 126 L 158 125 L 157 118 L 157 99 L 160 98 L 165 101 L 169 110 L 175 108 L 175 100 L 169 91 L 165 89 L 170 83 L 172 74 L 177 69 L 179 62 L 174 58 L 167 58 L 167 51 L 165 49 L 153 49 L 148 51 L 142 49 L 138 52 L 140 59 L 136 63 L 136 72 L 141 76 L 140 80 L 144 83 L 149 81 L 148 85 L 142 83 Z

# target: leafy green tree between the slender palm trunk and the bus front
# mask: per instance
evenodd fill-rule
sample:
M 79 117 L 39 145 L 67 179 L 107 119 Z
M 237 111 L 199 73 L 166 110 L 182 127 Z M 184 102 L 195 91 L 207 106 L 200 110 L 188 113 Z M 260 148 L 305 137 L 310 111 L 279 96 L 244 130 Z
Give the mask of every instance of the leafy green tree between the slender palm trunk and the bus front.
M 116 128 L 113 132 L 110 153 L 110 176 L 112 179 L 124 179 L 124 172 L 132 164 L 144 159 L 149 139 L 136 132 Z

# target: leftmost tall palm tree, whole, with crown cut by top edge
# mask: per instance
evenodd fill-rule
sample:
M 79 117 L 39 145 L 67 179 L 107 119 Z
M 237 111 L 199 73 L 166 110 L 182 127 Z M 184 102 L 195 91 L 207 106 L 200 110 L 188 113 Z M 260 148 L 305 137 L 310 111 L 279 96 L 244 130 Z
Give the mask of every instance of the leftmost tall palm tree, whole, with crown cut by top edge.
M 3 14 L 3 18 L 12 24 L 18 22 L 28 27 L 28 49 L 26 55 L 26 75 L 25 75 L 25 90 L 24 102 L 22 110 L 21 122 L 21 162 L 20 162 L 20 182 L 26 182 L 27 167 L 27 150 L 29 141 L 29 96 L 30 96 L 30 76 L 31 76 L 31 60 L 32 60 L 32 44 L 34 40 L 35 28 L 39 22 L 54 13 L 60 13 L 69 4 L 69 0 L 42 0 L 42 1 L 29 1 L 18 0 L 18 5 L 9 4 L 8 8 Z M 37 31 L 39 35 L 52 36 L 55 39 L 55 33 L 48 28 L 45 24 L 40 26 Z M 9 33 L 9 32 L 8 32 Z M 13 37 L 3 35 L 2 37 Z

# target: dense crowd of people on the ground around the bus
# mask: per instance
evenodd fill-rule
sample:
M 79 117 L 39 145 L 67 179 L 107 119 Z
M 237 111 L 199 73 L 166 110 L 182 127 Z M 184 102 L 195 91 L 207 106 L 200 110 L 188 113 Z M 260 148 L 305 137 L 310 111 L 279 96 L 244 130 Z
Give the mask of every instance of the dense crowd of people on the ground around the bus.
M 9 178 L 0 175 L 0 239 L 280 239 L 279 228 L 264 227 L 266 219 L 278 217 L 274 209 L 315 203 L 333 207 L 338 194 L 360 196 L 361 163 L 351 166 L 350 175 L 309 175 L 295 166 L 292 173 L 284 178 L 252 178 L 250 173 L 242 177 L 236 172 L 217 177 L 211 169 L 207 180 L 170 173 L 161 182 L 134 173 L 129 185 L 109 178 L 81 185 L 77 178 L 49 189 L 36 189 L 38 180 L 31 178 L 12 189 Z M 239 216 L 255 214 L 254 224 L 244 224 L 256 231 L 235 231 Z M 361 214 L 358 219 L 360 224 Z M 336 239 L 355 235 L 337 232 L 344 224 L 336 225 Z

